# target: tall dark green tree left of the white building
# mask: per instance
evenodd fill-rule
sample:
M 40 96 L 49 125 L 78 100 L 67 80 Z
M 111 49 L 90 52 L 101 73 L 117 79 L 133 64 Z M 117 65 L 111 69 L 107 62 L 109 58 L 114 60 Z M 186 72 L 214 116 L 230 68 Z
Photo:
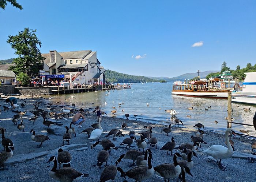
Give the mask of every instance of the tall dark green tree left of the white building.
M 41 41 L 38 40 L 35 32 L 36 30 L 25 28 L 18 35 L 8 36 L 7 42 L 16 50 L 15 54 L 19 55 L 13 62 L 16 65 L 10 67 L 16 74 L 20 72 L 25 72 L 31 76 L 38 74 L 39 66 L 45 59 L 39 51 L 38 46 L 41 47 Z

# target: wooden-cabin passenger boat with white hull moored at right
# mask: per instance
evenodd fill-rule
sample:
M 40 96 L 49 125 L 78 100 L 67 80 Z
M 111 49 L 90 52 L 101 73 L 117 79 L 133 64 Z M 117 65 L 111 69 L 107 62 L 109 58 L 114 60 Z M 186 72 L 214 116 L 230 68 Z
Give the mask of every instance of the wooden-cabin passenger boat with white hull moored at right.
M 232 90 L 209 87 L 209 82 L 195 81 L 185 84 L 174 84 L 172 94 L 192 97 L 227 99 L 227 93 Z

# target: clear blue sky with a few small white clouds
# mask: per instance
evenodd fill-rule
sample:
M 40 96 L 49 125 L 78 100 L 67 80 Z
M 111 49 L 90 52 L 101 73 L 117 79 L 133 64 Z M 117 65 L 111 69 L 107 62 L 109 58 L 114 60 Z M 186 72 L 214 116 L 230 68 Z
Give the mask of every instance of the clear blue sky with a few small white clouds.
M 17 2 L 23 10 L 0 10 L 0 59 L 16 57 L 7 37 L 29 27 L 37 29 L 41 53 L 97 51 L 106 69 L 131 75 L 256 64 L 255 0 Z

